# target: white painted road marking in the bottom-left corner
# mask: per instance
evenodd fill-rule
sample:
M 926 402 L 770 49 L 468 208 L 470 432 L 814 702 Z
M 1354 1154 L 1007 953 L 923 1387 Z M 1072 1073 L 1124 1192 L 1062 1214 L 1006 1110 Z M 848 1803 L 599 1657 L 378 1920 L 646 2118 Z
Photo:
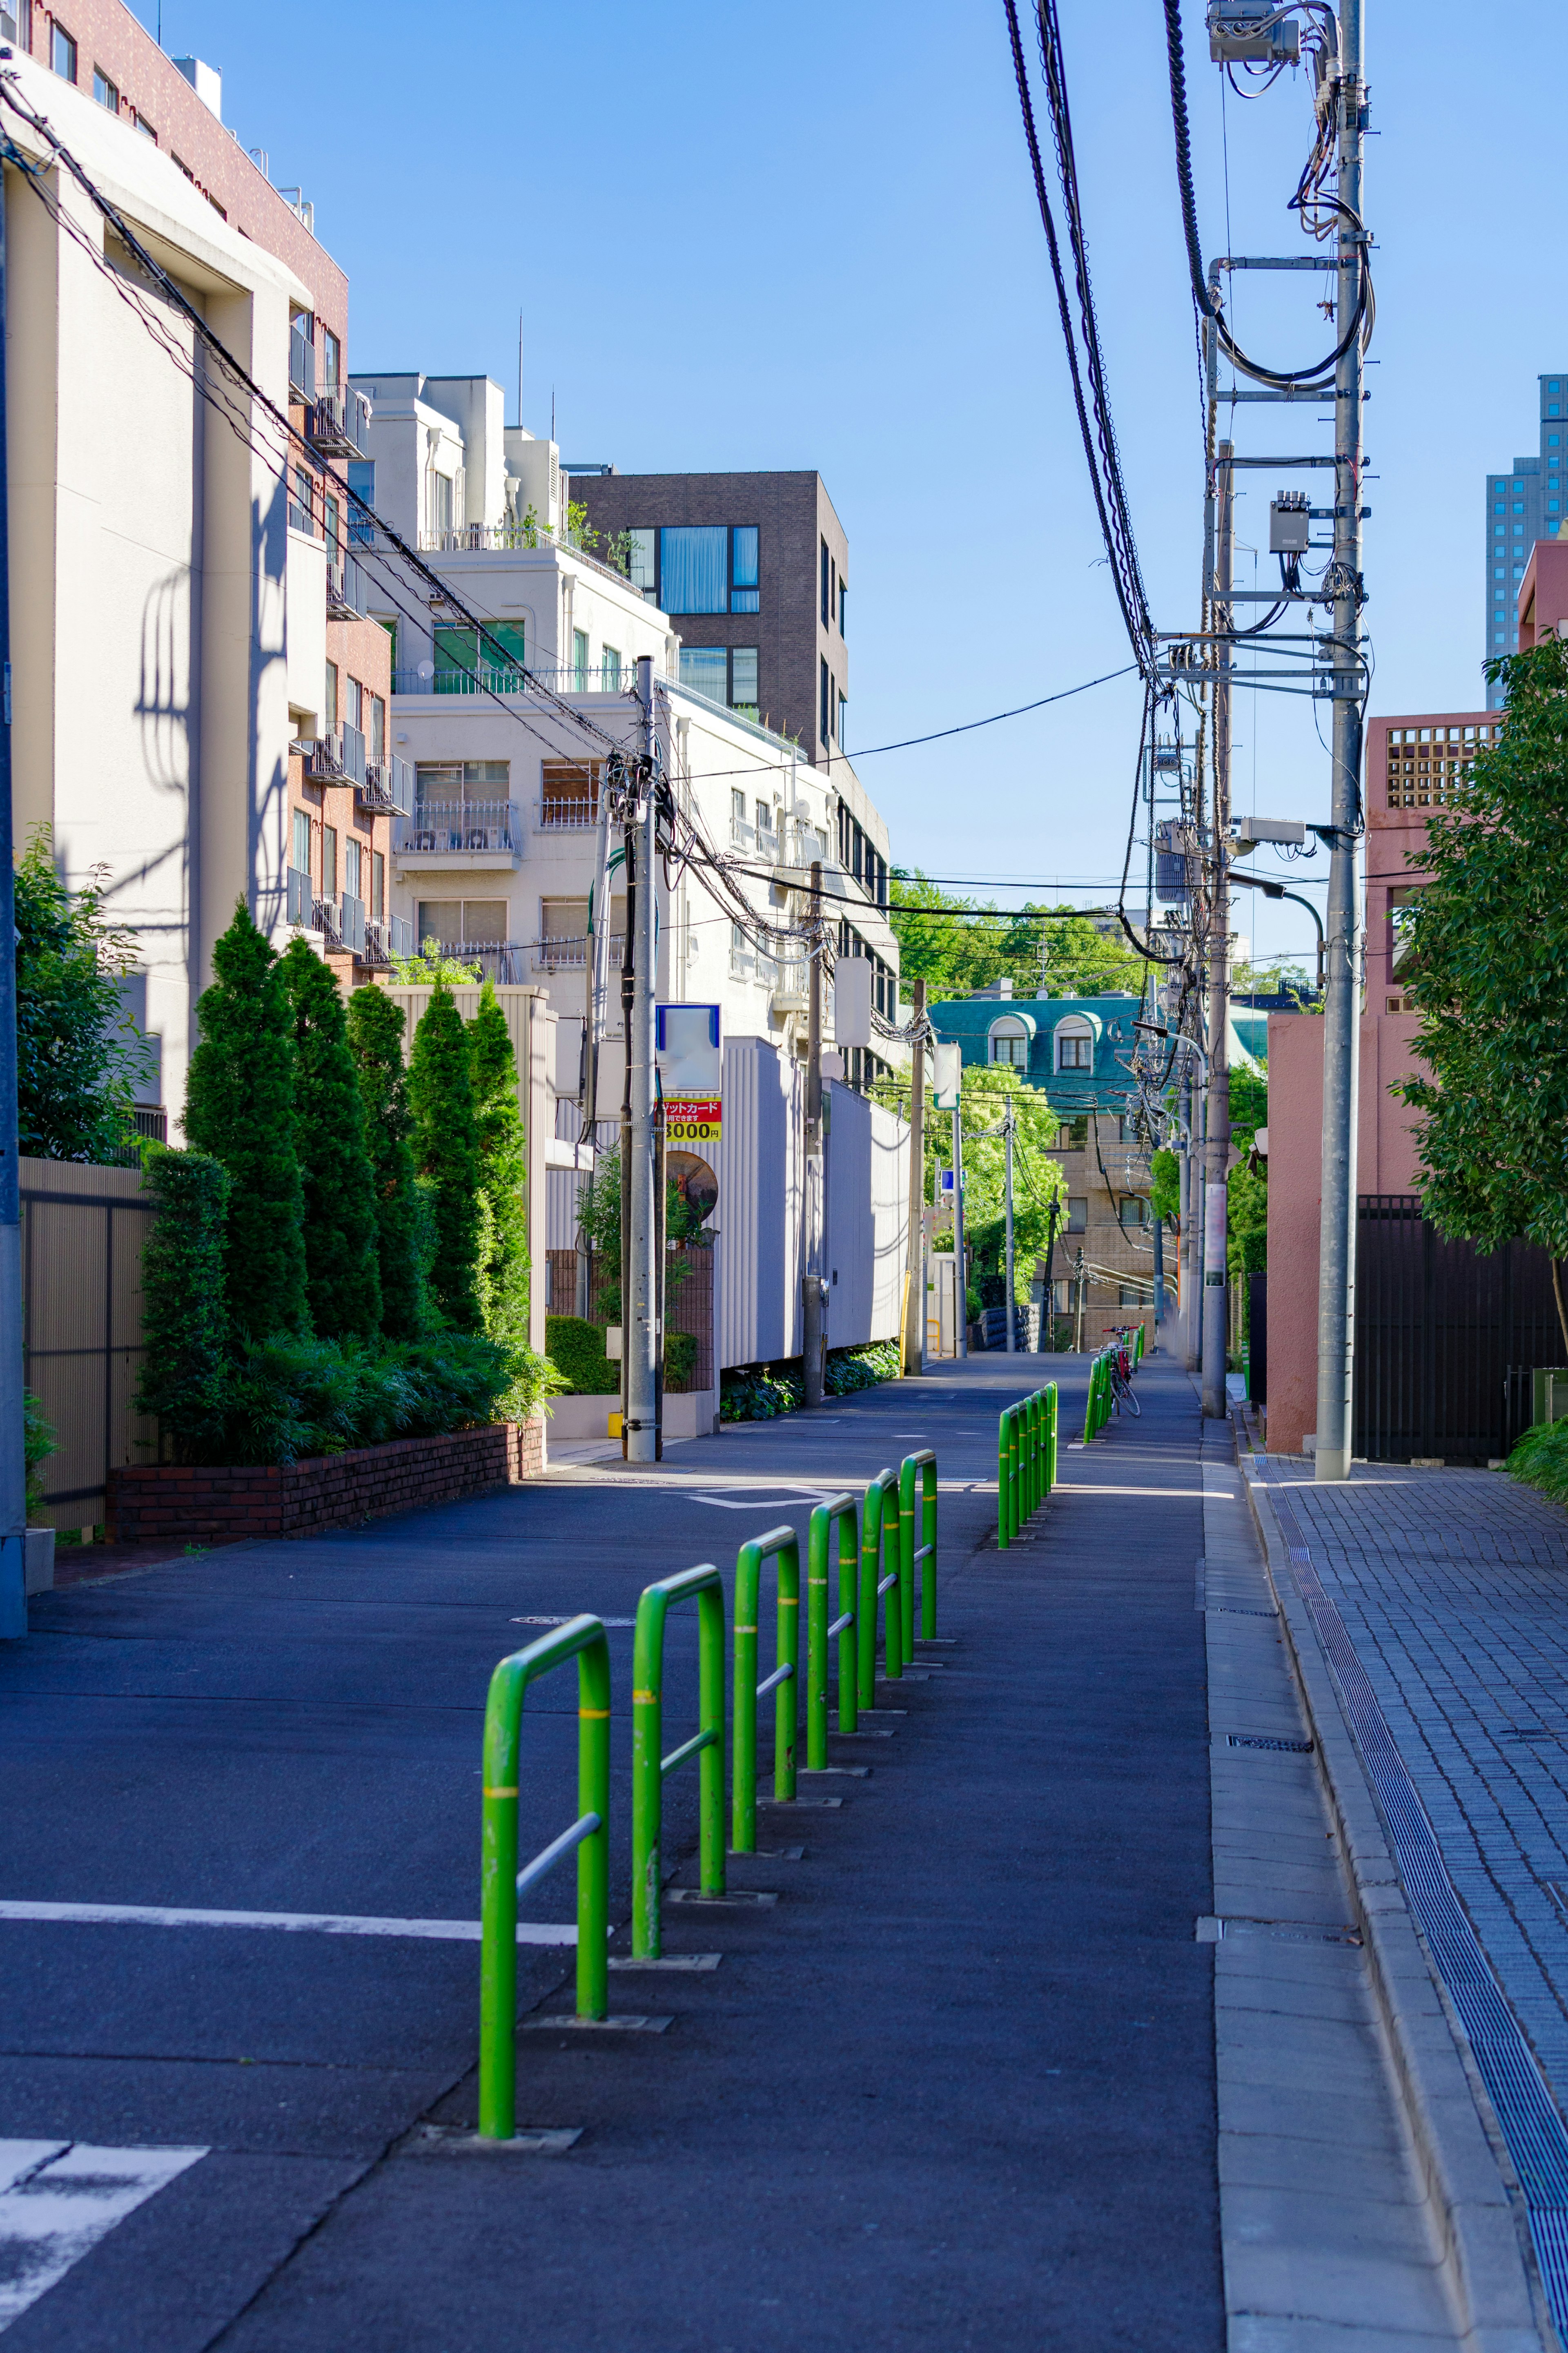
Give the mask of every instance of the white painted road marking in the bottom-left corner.
M 205 2148 L 0 2141 L 0 2329 Z

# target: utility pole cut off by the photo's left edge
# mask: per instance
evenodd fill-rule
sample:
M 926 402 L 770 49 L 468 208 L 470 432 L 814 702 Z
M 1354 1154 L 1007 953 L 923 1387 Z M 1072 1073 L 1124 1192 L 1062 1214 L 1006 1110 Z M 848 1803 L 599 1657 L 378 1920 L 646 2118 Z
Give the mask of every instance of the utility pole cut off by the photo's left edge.
M 12 562 L 5 419 L 5 174 L 0 174 L 0 1640 L 28 1631 L 21 1445 L 21 1162 L 16 1141 L 16 887 L 12 842 Z

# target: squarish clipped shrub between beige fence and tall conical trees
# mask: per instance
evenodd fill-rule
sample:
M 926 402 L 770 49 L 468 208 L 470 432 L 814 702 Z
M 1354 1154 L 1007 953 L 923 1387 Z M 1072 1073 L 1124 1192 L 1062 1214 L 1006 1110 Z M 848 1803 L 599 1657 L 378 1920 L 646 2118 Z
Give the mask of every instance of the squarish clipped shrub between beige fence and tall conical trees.
M 223 1247 L 230 1176 L 209 1153 L 146 1155 L 158 1221 L 141 1249 L 136 1412 L 155 1414 L 174 1461 L 207 1461 L 228 1409 Z

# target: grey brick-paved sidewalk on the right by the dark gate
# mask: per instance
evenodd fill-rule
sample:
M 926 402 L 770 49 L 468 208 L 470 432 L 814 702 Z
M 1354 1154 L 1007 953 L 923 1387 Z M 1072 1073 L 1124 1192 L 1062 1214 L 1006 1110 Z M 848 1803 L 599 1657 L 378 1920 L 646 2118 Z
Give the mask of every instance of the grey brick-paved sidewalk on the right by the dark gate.
M 1568 1513 L 1497 1471 L 1363 1464 L 1333 1487 L 1305 1459 L 1248 1471 L 1293 1513 L 1568 2111 Z

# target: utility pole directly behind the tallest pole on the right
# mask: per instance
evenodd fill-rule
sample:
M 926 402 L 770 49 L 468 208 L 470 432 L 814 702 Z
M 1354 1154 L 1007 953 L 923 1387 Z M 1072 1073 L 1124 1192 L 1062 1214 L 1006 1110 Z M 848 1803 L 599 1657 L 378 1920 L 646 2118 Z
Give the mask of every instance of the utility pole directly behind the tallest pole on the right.
M 1234 447 L 1215 452 L 1215 626 L 1229 631 L 1229 588 L 1237 548 Z M 1208 1134 L 1204 1141 L 1204 1417 L 1225 1421 L 1225 1162 L 1229 1160 L 1229 668 L 1232 645 L 1220 635 L 1213 680 L 1213 889 L 1208 896 Z

